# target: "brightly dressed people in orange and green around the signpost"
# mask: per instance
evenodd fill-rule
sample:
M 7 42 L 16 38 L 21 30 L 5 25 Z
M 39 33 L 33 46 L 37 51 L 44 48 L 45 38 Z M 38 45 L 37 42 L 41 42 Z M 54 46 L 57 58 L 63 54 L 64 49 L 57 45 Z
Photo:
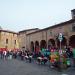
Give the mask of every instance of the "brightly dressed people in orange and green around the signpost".
M 51 67 L 68 68 L 75 66 L 75 48 L 66 46 L 63 49 L 52 48 L 50 50 Z

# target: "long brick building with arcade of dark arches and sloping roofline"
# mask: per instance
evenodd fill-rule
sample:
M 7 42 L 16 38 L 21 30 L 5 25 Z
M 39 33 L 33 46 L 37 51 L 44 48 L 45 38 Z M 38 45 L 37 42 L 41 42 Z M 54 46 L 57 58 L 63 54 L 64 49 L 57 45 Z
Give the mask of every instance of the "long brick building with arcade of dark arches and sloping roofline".
M 59 34 L 62 34 L 61 47 L 75 47 L 75 9 L 72 10 L 72 19 L 51 27 L 35 31 L 27 36 L 27 49 L 38 52 L 42 48 L 60 47 Z

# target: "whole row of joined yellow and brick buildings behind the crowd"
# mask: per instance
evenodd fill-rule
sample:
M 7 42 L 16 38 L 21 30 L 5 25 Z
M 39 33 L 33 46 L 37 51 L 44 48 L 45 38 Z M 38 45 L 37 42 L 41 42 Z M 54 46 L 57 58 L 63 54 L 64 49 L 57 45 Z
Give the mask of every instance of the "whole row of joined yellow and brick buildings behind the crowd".
M 0 49 L 22 49 L 38 52 L 42 48 L 60 47 L 59 34 L 62 34 L 61 48 L 75 47 L 75 9 L 72 19 L 45 29 L 28 29 L 15 33 L 0 29 Z

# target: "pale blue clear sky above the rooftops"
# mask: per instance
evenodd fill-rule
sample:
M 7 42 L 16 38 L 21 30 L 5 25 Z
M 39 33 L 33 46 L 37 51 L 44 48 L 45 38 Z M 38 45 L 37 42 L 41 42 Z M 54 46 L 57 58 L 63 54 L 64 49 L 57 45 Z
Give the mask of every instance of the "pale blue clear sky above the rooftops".
M 0 26 L 21 31 L 46 28 L 71 19 L 75 0 L 0 0 Z

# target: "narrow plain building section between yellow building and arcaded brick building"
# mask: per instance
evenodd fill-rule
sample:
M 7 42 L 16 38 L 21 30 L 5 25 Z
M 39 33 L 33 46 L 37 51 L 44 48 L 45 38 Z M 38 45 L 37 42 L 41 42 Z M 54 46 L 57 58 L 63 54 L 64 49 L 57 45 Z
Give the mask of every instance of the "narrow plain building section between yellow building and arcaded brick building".
M 26 50 L 27 49 L 27 34 L 38 31 L 38 28 L 34 28 L 34 29 L 27 29 L 27 30 L 22 30 L 19 31 L 18 34 L 18 39 L 19 39 L 19 47 L 22 50 Z

